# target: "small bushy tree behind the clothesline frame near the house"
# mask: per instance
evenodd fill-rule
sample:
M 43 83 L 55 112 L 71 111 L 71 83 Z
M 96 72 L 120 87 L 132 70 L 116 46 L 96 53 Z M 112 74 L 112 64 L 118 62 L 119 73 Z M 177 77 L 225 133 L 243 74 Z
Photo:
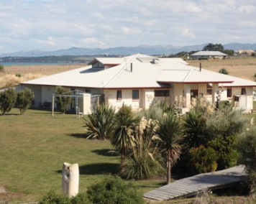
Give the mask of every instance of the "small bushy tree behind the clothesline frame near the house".
M 55 94 L 59 94 L 59 95 L 70 94 L 70 88 L 64 88 L 61 86 L 57 86 Z M 70 96 L 57 96 L 56 97 L 56 102 L 57 102 L 58 108 L 60 108 L 60 111 L 62 111 L 64 114 L 65 114 L 65 111 L 68 110 L 71 100 L 72 100 L 72 98 Z

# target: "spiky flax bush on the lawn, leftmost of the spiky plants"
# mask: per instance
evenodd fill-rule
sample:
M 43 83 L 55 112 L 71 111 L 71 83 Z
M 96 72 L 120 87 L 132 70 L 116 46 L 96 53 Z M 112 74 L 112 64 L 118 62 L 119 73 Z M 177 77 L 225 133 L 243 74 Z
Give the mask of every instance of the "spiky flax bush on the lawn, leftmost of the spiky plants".
M 109 139 L 114 132 L 115 108 L 109 104 L 94 106 L 86 121 L 87 138 Z

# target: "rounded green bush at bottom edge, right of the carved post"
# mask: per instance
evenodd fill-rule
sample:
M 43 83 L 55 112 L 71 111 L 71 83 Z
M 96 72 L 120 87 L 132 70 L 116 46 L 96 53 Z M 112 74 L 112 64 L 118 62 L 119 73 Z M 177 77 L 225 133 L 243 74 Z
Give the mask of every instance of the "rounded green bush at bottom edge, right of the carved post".
M 119 177 L 106 177 L 88 187 L 88 199 L 99 204 L 140 204 L 145 203 L 137 187 Z

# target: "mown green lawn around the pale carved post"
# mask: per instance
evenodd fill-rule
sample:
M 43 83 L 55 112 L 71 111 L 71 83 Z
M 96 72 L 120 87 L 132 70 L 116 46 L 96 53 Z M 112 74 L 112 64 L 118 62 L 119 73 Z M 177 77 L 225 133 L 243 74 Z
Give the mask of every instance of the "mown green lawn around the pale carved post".
M 17 202 L 37 201 L 49 190 L 61 192 L 63 162 L 78 163 L 80 192 L 119 167 L 119 156 L 109 154 L 108 141 L 85 139 L 83 119 L 74 115 L 14 108 L 0 116 L 0 185 L 23 193 Z M 161 180 L 134 182 L 145 192 L 163 185 Z

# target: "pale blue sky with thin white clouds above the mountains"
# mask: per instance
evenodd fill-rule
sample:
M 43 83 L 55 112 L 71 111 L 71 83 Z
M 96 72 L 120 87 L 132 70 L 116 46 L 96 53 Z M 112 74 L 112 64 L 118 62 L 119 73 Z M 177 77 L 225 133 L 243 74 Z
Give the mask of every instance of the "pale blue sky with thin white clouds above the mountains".
M 0 0 L 0 53 L 256 42 L 255 0 Z

